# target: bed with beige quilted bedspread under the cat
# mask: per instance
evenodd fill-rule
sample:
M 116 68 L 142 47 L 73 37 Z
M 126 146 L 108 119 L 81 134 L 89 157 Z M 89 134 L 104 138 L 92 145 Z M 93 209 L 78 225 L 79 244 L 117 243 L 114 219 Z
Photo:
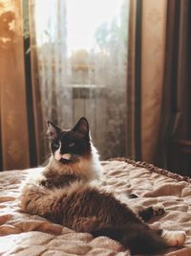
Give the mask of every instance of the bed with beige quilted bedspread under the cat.
M 113 191 L 123 202 L 139 209 L 162 203 L 166 213 L 149 224 L 154 228 L 184 230 L 187 239 L 183 247 L 169 248 L 165 255 L 191 255 L 191 179 L 172 174 L 153 165 L 117 158 L 102 162 L 102 187 Z M 39 216 L 19 211 L 20 183 L 39 168 L 0 173 L 0 255 L 8 256 L 126 256 L 128 250 L 106 237 L 54 224 Z M 138 198 L 129 198 L 137 194 Z

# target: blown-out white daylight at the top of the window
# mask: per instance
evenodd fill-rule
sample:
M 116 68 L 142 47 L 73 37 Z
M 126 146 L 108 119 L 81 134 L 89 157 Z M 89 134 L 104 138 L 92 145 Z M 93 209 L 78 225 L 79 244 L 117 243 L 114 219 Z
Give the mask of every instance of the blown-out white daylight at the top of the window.
M 98 29 L 101 31 L 102 28 L 104 33 L 104 29 L 109 30 L 113 26 L 114 20 L 120 26 L 120 12 L 123 2 L 123 0 L 62 1 L 60 5 L 66 9 L 64 12 L 63 8 L 65 17 L 58 18 L 64 19 L 67 25 L 65 36 L 67 37 L 68 53 L 71 54 L 79 49 L 91 51 L 96 47 L 95 37 Z M 57 22 L 56 8 L 57 5 L 55 5 L 54 0 L 41 0 L 35 3 L 38 45 L 49 41 L 57 42 L 54 26 Z M 64 30 L 64 28 L 57 29 Z

